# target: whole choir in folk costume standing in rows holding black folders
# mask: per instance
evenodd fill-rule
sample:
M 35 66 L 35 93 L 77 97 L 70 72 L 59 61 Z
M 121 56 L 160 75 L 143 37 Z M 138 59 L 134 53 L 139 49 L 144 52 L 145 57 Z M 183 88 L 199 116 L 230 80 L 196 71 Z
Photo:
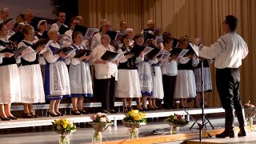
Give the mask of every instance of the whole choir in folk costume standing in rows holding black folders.
M 125 113 L 132 109 L 133 98 L 138 110 L 158 109 L 156 99 L 163 99 L 164 109 L 174 109 L 175 99 L 179 100 L 179 107 L 188 108 L 187 99 L 202 92 L 201 62 L 204 90 L 212 90 L 211 61 L 194 54 L 186 35 L 176 39 L 170 32 L 154 34 L 153 20 L 148 21 L 148 27 L 141 34 L 134 34 L 133 29 L 127 28 L 126 21 L 120 22 L 118 32 L 122 37 L 120 42 L 115 42 L 108 33 L 111 26 L 107 19 L 102 19 L 100 29 L 86 40 L 84 31 L 74 30 L 82 25 L 81 16 L 71 18 L 70 27 L 64 24 L 66 14 L 62 11 L 57 14 L 58 22 L 50 27 L 46 20 L 31 26 L 34 18 L 31 10 L 26 10 L 24 22 L 18 26 L 9 16 L 10 10 L 3 8 L 0 15 L 1 120 L 18 119 L 10 113 L 14 102 L 23 104 L 23 118 L 37 118 L 33 103 L 46 101 L 50 102 L 48 116 L 62 116 L 58 110 L 62 98 L 71 98 L 72 114 L 89 114 L 82 105 L 84 98 L 93 97 L 94 92 L 101 97 L 104 113 L 116 114 L 115 98 L 122 98 Z M 156 39 L 158 36 L 162 38 L 160 42 Z M 42 39 L 47 41 L 40 43 Z M 145 46 L 153 50 L 147 54 L 144 50 L 134 52 Z M 66 52 L 66 48 L 71 49 Z M 182 57 L 172 54 L 171 50 L 177 48 L 189 49 L 189 52 Z M 82 50 L 91 53 L 78 56 Z M 103 60 L 102 55 L 107 50 L 125 54 L 114 61 Z M 158 50 L 159 55 L 153 53 L 154 50 Z M 163 60 L 163 54 L 168 54 L 168 58 Z M 200 105 L 200 99 L 198 94 L 195 107 Z

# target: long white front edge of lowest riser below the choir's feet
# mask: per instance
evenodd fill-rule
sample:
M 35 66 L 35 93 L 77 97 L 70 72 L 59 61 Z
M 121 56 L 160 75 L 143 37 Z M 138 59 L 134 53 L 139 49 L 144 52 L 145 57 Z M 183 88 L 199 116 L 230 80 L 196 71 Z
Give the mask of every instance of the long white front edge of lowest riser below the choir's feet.
M 201 109 L 187 109 L 188 113 L 193 114 L 201 114 Z M 206 108 L 205 114 L 218 114 L 222 113 L 224 110 L 222 108 Z M 146 118 L 161 118 L 168 117 L 170 114 L 183 114 L 187 115 L 186 112 L 182 109 L 174 109 L 174 110 L 150 110 L 146 111 Z M 50 126 L 51 122 L 54 119 L 58 118 L 69 118 L 70 121 L 74 123 L 78 122 L 91 122 L 90 116 L 92 114 L 86 115 L 66 115 L 64 117 L 39 117 L 39 118 L 19 118 L 18 120 L 12 121 L 0 121 L 0 129 L 8 129 L 8 128 L 17 128 L 17 127 L 29 127 L 29 126 Z M 114 126 L 116 126 L 118 120 L 122 120 L 125 117 L 124 113 L 118 114 L 108 114 L 111 121 L 114 122 Z M 189 117 L 186 117 L 189 120 Z

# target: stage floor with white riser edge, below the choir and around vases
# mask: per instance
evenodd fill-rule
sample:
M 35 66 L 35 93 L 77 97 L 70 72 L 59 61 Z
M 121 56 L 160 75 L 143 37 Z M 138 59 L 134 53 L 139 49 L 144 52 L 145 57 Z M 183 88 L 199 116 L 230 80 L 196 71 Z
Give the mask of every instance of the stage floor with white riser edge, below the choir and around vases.
M 217 111 L 217 108 L 206 108 L 206 111 L 214 111 L 214 109 Z M 190 114 L 192 112 L 200 111 L 201 109 L 191 109 Z M 183 110 L 184 111 L 184 110 Z M 190 124 L 188 126 L 180 128 L 180 134 L 174 134 L 170 135 L 167 133 L 159 133 L 156 134 L 153 132 L 153 130 L 157 129 L 164 129 L 168 128 L 169 125 L 167 125 L 164 120 L 165 114 L 172 114 L 177 113 L 178 110 L 157 110 L 157 111 L 149 111 L 146 112 L 148 114 L 147 117 L 153 117 L 149 118 L 149 122 L 146 126 L 142 126 L 139 130 L 139 138 L 136 140 L 130 140 L 129 134 L 128 134 L 128 128 L 122 126 L 122 122 L 117 120 L 116 126 L 112 126 L 110 130 L 107 130 L 103 132 L 103 143 L 182 143 L 182 142 L 192 142 L 191 144 L 198 143 L 199 139 L 199 133 L 198 133 L 198 126 L 195 125 L 193 129 L 190 130 L 190 126 L 194 123 L 193 120 L 190 119 Z M 182 114 L 182 110 L 179 110 L 179 113 Z M 178 114 L 179 114 L 178 113 Z M 110 118 L 122 118 L 124 116 L 123 113 L 118 114 L 108 114 L 110 115 Z M 198 118 L 199 115 L 193 115 L 195 118 Z M 83 116 L 70 116 L 67 115 L 65 118 L 70 118 L 71 120 L 74 120 L 76 122 L 85 122 L 90 121 L 90 114 L 89 115 L 83 115 Z M 157 118 L 158 117 L 158 118 Z M 207 124 L 207 128 L 209 130 L 206 130 L 207 133 L 209 133 L 211 136 L 214 136 L 215 134 L 218 134 L 222 132 L 224 126 L 224 118 L 223 114 L 221 113 L 215 113 L 215 114 L 207 114 L 207 117 L 210 119 L 210 122 L 214 126 L 214 130 L 211 129 L 210 125 Z M 63 117 L 58 117 L 63 118 Z M 56 118 L 46 118 L 46 117 L 40 117 L 40 118 L 34 118 L 34 119 L 19 119 L 18 121 L 11 121 L 11 122 L 3 122 L 0 121 L 0 127 L 2 128 L 0 130 L 0 142 L 4 142 L 5 144 L 33 144 L 33 143 L 47 143 L 47 144 L 54 144 L 58 143 L 58 134 L 56 134 L 52 128 L 50 122 L 52 122 Z M 199 123 L 202 123 L 200 120 Z M 31 126 L 34 123 L 34 126 Z M 255 120 L 254 120 L 255 123 Z M 36 126 L 37 125 L 37 126 Z M 41 126 L 40 126 L 41 125 Z M 3 128 L 3 126 L 6 126 L 6 128 Z M 10 126 L 13 126 L 13 128 L 10 128 Z M 82 126 L 82 124 L 80 125 Z M 237 118 L 235 118 L 235 126 L 238 126 Z M 256 126 L 254 126 L 256 127 Z M 250 130 L 250 127 L 247 127 L 248 131 Z M 252 129 L 253 130 L 253 129 Z M 85 124 L 84 128 L 78 128 L 77 131 L 75 131 L 73 134 L 70 134 L 70 143 L 71 144 L 84 144 L 84 143 L 90 143 L 91 142 L 91 136 L 93 134 L 94 129 L 89 125 Z M 236 133 L 238 133 L 238 129 L 236 129 Z M 232 143 L 255 143 L 255 139 L 251 135 L 255 135 L 255 131 L 251 131 L 248 133 L 248 137 L 246 138 L 218 138 L 218 141 L 216 138 L 207 138 L 207 135 L 204 133 L 203 142 L 218 142 L 218 143 L 226 143 L 226 142 L 232 142 Z M 106 140 L 107 139 L 107 140 Z M 226 140 L 228 139 L 228 140 Z

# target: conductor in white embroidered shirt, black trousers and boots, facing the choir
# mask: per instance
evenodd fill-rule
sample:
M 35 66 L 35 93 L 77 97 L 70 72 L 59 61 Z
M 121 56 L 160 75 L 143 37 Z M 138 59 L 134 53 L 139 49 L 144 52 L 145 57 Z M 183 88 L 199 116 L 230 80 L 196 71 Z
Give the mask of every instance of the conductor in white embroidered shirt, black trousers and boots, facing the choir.
M 242 103 L 239 94 L 240 72 L 242 59 L 248 54 L 248 47 L 242 37 L 236 34 L 238 18 L 227 15 L 222 22 L 225 34 L 211 46 L 202 44 L 196 38 L 194 44 L 199 46 L 199 56 L 202 58 L 215 58 L 216 85 L 218 94 L 225 109 L 225 130 L 216 134 L 217 138 L 234 138 L 234 110 L 238 117 L 240 131 L 238 137 L 246 136 L 245 119 L 242 114 Z

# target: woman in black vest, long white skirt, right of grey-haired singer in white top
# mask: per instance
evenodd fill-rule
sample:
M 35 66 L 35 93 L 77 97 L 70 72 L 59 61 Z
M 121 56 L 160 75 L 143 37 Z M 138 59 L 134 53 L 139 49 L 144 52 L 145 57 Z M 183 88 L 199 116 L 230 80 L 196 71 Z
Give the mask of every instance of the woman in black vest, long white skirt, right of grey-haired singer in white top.
M 138 80 L 138 67 L 136 61 L 138 58 L 130 53 L 132 49 L 129 45 L 130 36 L 128 34 L 122 35 L 121 46 L 118 50 L 119 53 L 126 51 L 124 57 L 120 60 L 118 65 L 118 88 L 117 98 L 122 98 L 123 112 L 126 113 L 131 110 L 131 102 L 133 98 L 141 98 L 141 88 Z M 127 108 L 128 99 L 128 108 Z M 137 107 L 141 108 L 141 104 L 137 103 Z M 142 108 L 141 108 L 142 109 Z

